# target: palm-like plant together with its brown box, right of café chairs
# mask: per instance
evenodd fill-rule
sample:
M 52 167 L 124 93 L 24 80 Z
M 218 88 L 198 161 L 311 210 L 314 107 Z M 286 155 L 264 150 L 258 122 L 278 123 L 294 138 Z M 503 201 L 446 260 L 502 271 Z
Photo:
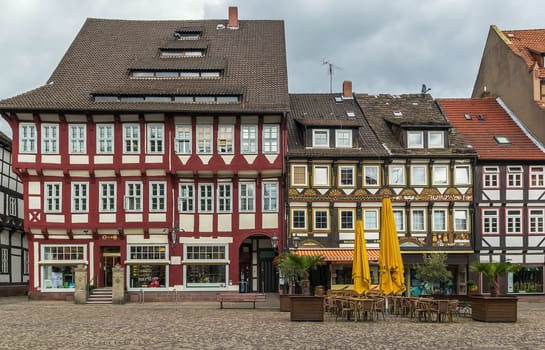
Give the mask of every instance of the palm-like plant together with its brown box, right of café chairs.
M 472 318 L 484 322 L 516 322 L 517 297 L 500 295 L 499 279 L 508 272 L 517 272 L 520 266 L 508 262 L 474 262 L 471 272 L 481 274 L 490 287 L 490 295 L 471 297 Z

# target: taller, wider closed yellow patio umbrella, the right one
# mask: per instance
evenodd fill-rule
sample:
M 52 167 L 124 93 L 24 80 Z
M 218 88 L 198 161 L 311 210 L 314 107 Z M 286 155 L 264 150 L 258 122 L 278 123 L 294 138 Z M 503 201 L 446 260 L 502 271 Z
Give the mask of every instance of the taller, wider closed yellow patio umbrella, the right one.
M 390 198 L 382 200 L 379 250 L 380 291 L 385 295 L 405 291 L 405 277 L 394 211 Z

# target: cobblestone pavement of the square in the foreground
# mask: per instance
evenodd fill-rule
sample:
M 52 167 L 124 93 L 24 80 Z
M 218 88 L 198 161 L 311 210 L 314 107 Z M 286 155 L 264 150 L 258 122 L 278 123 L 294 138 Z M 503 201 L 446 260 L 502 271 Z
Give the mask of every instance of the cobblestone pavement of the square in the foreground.
M 545 303 L 518 322 L 290 322 L 277 300 L 76 305 L 0 298 L 0 349 L 544 349 Z

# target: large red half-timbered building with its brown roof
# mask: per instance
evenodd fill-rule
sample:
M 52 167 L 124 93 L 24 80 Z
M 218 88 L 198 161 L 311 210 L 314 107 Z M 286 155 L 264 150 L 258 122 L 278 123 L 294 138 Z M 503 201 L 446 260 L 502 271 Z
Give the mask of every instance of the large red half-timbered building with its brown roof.
M 24 186 L 31 297 L 72 293 L 78 265 L 109 286 L 117 264 L 129 292 L 276 291 L 283 22 L 229 10 L 89 19 L 46 85 L 0 103 Z

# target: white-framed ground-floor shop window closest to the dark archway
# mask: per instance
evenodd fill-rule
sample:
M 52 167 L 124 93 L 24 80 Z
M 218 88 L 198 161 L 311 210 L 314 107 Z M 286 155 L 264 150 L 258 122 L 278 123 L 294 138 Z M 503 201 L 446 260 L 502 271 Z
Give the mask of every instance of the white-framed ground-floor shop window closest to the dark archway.
M 187 289 L 225 288 L 229 247 L 226 244 L 184 244 L 184 280 Z

